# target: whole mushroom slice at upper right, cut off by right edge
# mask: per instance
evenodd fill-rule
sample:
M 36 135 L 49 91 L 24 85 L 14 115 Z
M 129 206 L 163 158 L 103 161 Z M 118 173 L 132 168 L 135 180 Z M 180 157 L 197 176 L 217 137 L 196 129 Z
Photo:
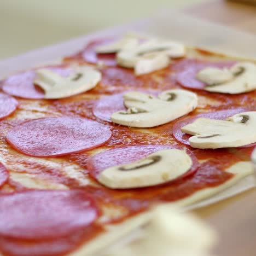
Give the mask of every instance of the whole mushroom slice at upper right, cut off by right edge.
M 197 79 L 206 83 L 206 91 L 241 94 L 256 89 L 256 65 L 241 62 L 230 69 L 207 67 L 197 74 Z

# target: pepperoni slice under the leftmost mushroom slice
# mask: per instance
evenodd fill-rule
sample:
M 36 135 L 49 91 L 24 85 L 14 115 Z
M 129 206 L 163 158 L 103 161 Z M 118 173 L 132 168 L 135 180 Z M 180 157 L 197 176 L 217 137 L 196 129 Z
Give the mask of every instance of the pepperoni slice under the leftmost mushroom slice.
M 47 67 L 51 71 L 66 77 L 71 73 L 70 68 Z M 21 98 L 30 98 L 33 100 L 44 98 L 44 91 L 38 86 L 34 86 L 33 80 L 36 78 L 36 73 L 26 71 L 24 73 L 15 74 L 3 81 L 2 89 L 9 95 Z

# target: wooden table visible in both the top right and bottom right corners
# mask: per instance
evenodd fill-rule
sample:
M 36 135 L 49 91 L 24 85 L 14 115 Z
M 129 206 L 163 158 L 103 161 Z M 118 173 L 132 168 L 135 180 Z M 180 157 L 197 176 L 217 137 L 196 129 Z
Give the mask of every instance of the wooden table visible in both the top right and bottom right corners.
M 194 5 L 185 13 L 256 34 L 256 5 L 216 0 Z M 256 189 L 194 212 L 218 231 L 216 255 L 256 255 Z

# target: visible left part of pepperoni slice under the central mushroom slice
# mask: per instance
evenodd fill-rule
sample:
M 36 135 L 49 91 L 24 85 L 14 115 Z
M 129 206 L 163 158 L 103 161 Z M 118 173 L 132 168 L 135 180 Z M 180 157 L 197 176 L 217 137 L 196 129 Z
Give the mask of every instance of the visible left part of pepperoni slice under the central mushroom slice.
M 120 110 L 126 110 L 124 106 L 123 94 L 115 94 L 101 98 L 92 108 L 95 117 L 111 122 L 111 115 Z

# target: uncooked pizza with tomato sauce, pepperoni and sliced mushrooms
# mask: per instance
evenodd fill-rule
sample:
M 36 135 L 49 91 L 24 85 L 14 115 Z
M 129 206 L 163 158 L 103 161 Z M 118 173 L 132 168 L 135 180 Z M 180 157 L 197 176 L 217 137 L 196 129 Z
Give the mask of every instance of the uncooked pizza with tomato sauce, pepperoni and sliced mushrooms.
M 2 80 L 0 118 L 0 252 L 96 255 L 152 207 L 193 205 L 252 174 L 256 65 L 101 38 Z

